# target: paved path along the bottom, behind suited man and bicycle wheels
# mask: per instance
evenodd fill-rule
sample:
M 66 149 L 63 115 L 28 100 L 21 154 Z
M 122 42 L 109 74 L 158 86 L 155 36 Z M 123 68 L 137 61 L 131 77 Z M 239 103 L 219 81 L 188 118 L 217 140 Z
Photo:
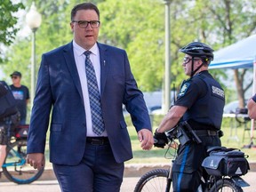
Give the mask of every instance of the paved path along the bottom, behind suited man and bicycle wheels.
M 256 172 L 248 172 L 244 177 L 251 186 L 244 192 L 256 191 Z M 125 177 L 120 192 L 132 192 L 139 177 Z M 60 192 L 57 180 L 39 180 L 29 185 L 17 185 L 12 182 L 0 182 L 0 192 Z

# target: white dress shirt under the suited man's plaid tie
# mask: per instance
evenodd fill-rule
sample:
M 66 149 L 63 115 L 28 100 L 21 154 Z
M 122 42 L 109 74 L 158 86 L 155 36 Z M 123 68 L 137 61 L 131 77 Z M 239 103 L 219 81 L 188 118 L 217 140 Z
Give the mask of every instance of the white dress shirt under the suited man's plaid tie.
M 87 137 L 98 137 L 97 134 L 92 132 L 92 113 L 90 107 L 90 100 L 89 100 L 89 93 L 88 93 L 88 86 L 87 86 L 87 78 L 85 72 L 85 55 L 83 47 L 76 44 L 75 40 L 73 40 L 73 47 L 74 47 L 74 57 L 76 61 L 76 68 L 79 75 L 80 83 L 82 86 L 83 98 L 84 98 L 84 110 L 85 110 L 85 117 L 86 117 L 86 126 L 87 126 Z M 95 70 L 95 75 L 97 78 L 98 88 L 100 92 L 100 51 L 97 44 L 94 44 L 92 48 L 89 50 L 92 52 L 90 54 L 90 60 L 92 61 L 93 68 Z M 101 136 L 106 137 L 107 132 L 106 130 L 101 134 Z

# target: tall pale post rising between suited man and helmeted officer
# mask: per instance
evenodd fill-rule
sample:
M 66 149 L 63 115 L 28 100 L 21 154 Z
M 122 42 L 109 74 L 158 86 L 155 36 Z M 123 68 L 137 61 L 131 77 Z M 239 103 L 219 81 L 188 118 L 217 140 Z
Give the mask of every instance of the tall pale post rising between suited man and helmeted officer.
M 164 76 L 164 113 L 170 108 L 170 0 L 165 0 L 165 76 Z

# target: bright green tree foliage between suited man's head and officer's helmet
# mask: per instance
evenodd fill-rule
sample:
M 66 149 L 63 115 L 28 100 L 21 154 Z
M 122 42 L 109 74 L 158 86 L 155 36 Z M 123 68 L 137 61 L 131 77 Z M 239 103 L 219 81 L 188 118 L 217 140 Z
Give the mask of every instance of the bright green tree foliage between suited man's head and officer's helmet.
M 176 0 L 171 6 L 171 12 L 174 12 L 171 19 L 171 81 L 179 84 L 184 75 L 178 50 L 181 44 L 185 45 L 183 42 L 188 36 L 180 33 L 184 28 L 179 28 L 180 23 L 184 22 L 175 15 L 181 12 L 184 4 Z M 161 90 L 164 79 L 164 1 L 106 0 L 99 4 L 99 8 L 102 21 L 100 40 L 127 50 L 133 74 L 143 91 Z

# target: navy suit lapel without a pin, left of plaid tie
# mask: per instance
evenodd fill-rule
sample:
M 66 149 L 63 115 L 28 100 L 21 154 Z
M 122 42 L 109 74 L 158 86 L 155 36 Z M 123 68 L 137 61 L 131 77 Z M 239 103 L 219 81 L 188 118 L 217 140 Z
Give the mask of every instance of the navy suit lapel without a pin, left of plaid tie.
M 81 86 L 80 78 L 79 78 L 77 68 L 76 68 L 76 61 L 75 61 L 75 57 L 74 57 L 74 53 L 73 53 L 72 42 L 70 44 L 67 44 L 67 46 L 63 49 L 63 55 L 66 60 L 68 70 L 70 72 L 70 76 L 72 76 L 73 82 L 76 85 L 76 89 L 79 92 L 79 95 L 84 104 L 82 86 Z

